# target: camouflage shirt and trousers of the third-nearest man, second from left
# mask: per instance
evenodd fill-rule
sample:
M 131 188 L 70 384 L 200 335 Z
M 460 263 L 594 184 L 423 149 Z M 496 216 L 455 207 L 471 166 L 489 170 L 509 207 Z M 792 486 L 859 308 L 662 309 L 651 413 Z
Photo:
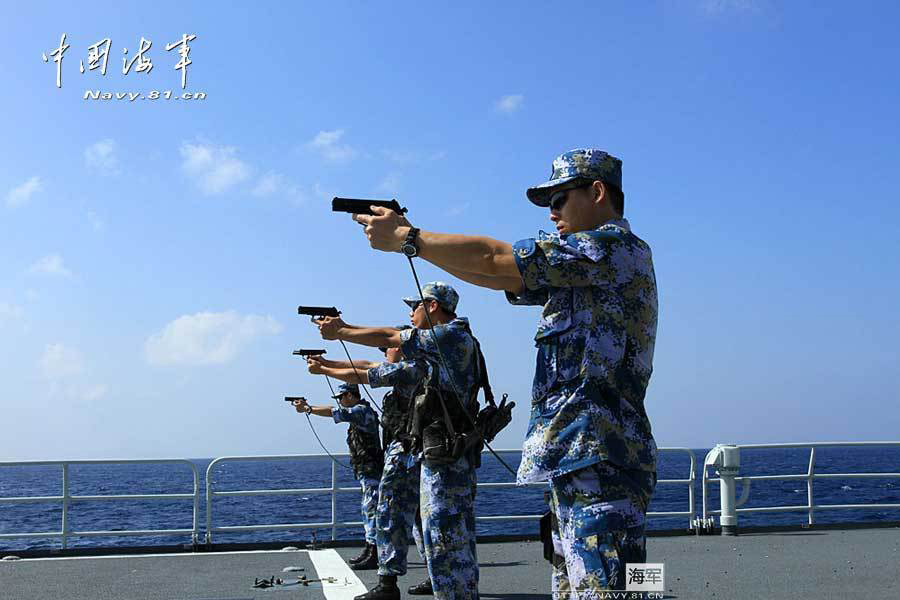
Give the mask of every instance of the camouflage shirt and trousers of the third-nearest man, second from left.
M 426 363 L 415 360 L 383 362 L 369 369 L 370 386 L 394 388 L 392 397 L 385 397 L 385 414 L 389 402 L 405 403 L 403 409 L 409 408 L 409 400 L 425 378 L 427 369 Z M 401 440 L 390 441 L 384 449 L 384 471 L 378 488 L 375 520 L 379 575 L 406 575 L 406 554 L 411 532 L 420 556 L 425 558 L 424 547 L 420 545 L 421 534 L 416 526 L 419 474 L 419 457 L 404 447 Z

